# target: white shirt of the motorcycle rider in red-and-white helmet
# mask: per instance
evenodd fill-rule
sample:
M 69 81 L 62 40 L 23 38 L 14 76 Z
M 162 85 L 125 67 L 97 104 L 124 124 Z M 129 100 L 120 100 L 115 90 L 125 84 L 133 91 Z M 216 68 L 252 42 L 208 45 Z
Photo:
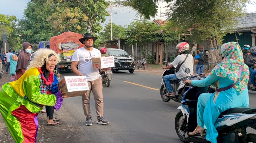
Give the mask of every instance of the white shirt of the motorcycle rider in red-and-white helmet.
M 174 68 L 176 68 L 179 64 L 181 64 L 183 62 L 183 60 L 186 58 L 187 54 L 182 54 L 177 56 L 174 61 L 172 62 L 172 65 L 174 66 Z M 193 56 L 188 54 L 187 59 L 185 60 L 185 62 L 181 65 L 180 70 L 178 72 L 176 72 L 176 76 L 177 78 L 181 79 L 183 77 L 186 76 L 190 76 L 193 75 L 194 70 L 193 70 L 193 65 L 194 65 L 194 59 Z M 187 74 L 185 72 L 185 69 L 189 68 L 190 69 L 190 74 Z

